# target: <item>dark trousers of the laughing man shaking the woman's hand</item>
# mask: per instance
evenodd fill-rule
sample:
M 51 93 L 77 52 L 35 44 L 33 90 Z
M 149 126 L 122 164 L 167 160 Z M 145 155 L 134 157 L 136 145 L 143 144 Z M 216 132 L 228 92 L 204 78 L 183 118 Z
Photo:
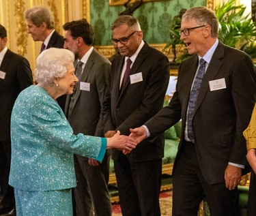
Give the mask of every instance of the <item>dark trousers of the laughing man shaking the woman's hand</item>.
M 202 200 L 208 202 L 211 216 L 237 215 L 237 189 L 225 187 L 224 173 L 223 182 L 210 185 L 201 173 L 195 145 L 186 142 L 182 148 L 173 172 L 173 216 L 196 216 Z

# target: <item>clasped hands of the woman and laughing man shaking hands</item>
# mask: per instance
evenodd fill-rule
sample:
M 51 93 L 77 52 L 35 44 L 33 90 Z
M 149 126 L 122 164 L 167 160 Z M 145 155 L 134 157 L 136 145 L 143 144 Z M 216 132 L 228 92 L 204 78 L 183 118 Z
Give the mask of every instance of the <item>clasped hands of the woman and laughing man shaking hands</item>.
M 107 140 L 106 149 L 115 148 L 119 151 L 122 151 L 124 155 L 127 155 L 135 149 L 137 144 L 139 144 L 144 138 L 146 138 L 147 133 L 144 127 L 137 127 L 130 129 L 130 135 L 124 136 L 120 135 L 120 132 L 117 131 L 108 131 L 104 135 Z

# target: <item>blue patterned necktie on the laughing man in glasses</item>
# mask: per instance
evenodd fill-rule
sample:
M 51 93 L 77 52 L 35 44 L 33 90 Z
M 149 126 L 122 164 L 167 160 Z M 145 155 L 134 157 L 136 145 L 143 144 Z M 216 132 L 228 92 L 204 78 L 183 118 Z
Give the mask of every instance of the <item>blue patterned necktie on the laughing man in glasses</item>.
M 195 112 L 195 103 L 197 102 L 197 96 L 199 94 L 201 82 L 205 74 L 205 64 L 206 64 L 206 61 L 204 59 L 200 59 L 200 67 L 197 72 L 197 76 L 195 77 L 193 87 L 190 91 L 190 97 L 188 101 L 188 116 L 187 116 L 188 138 L 191 140 L 191 142 L 194 142 L 194 143 L 195 143 L 195 137 L 193 133 L 192 120 Z

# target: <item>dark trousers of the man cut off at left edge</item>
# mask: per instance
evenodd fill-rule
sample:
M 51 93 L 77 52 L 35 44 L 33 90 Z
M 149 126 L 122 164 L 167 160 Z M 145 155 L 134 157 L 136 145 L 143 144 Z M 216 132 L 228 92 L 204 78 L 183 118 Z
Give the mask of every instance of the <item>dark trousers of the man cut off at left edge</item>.
M 14 189 L 8 184 L 11 164 L 11 142 L 0 141 L 0 187 L 1 205 L 13 209 L 15 206 Z

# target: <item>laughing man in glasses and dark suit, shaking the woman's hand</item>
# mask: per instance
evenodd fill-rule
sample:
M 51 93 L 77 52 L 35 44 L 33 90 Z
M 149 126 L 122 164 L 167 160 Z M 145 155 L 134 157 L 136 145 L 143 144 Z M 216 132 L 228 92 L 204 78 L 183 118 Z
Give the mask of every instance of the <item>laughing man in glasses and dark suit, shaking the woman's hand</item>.
M 197 215 L 203 199 L 210 215 L 236 215 L 233 201 L 248 165 L 242 132 L 256 101 L 256 76 L 251 58 L 217 37 L 212 10 L 186 11 L 180 38 L 192 56 L 180 65 L 176 92 L 169 106 L 144 126 L 131 129 L 139 142 L 182 119 L 173 167 L 173 216 Z

